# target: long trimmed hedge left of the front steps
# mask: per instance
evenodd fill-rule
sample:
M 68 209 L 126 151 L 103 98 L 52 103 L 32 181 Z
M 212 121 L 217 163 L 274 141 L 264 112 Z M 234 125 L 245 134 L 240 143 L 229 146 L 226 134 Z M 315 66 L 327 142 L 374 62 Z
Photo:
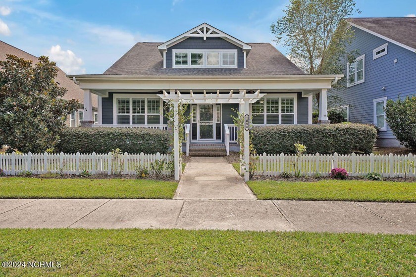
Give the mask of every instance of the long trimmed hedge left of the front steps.
M 57 152 L 108 153 L 120 148 L 123 152 L 137 154 L 167 153 L 167 131 L 148 128 L 65 128 L 56 145 Z

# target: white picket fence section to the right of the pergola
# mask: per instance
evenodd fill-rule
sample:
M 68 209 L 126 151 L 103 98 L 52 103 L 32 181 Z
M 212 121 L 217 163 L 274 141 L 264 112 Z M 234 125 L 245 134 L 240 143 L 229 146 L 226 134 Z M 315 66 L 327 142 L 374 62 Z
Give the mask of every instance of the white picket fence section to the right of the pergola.
M 295 174 L 293 162 L 295 155 L 281 153 L 280 155 L 262 155 L 252 156 L 256 164 L 256 175 L 277 176 L 286 171 Z M 322 176 L 328 176 L 333 168 L 344 168 L 349 176 L 365 176 L 370 172 L 379 173 L 383 177 L 409 177 L 416 176 L 416 155 L 303 155 L 298 161 L 298 169 L 301 175 L 314 176 L 319 173 Z

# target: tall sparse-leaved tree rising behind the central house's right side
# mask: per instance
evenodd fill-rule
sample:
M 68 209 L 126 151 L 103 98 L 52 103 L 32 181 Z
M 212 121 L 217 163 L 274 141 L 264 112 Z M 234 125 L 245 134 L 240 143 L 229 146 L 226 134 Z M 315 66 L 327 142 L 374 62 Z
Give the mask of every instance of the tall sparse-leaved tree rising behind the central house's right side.
M 271 32 L 306 73 L 342 74 L 342 61 L 353 54 L 346 47 L 354 38 L 345 18 L 357 10 L 355 5 L 355 0 L 290 0 Z

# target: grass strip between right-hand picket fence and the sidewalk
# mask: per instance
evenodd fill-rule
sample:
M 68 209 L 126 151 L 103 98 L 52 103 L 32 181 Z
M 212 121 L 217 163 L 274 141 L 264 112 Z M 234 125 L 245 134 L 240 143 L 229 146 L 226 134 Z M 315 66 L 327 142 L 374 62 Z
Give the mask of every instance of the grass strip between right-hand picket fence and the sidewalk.
M 416 202 L 416 183 L 388 181 L 249 181 L 259 199 Z

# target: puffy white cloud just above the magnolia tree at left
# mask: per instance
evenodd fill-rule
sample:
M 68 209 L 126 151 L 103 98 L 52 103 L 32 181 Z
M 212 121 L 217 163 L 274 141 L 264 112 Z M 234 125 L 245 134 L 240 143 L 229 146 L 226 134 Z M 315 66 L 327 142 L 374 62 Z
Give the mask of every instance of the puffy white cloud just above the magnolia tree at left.
M 84 64 L 82 59 L 71 50 L 63 50 L 60 45 L 52 46 L 48 55 L 67 74 L 85 74 L 86 72 L 85 68 L 81 67 Z

